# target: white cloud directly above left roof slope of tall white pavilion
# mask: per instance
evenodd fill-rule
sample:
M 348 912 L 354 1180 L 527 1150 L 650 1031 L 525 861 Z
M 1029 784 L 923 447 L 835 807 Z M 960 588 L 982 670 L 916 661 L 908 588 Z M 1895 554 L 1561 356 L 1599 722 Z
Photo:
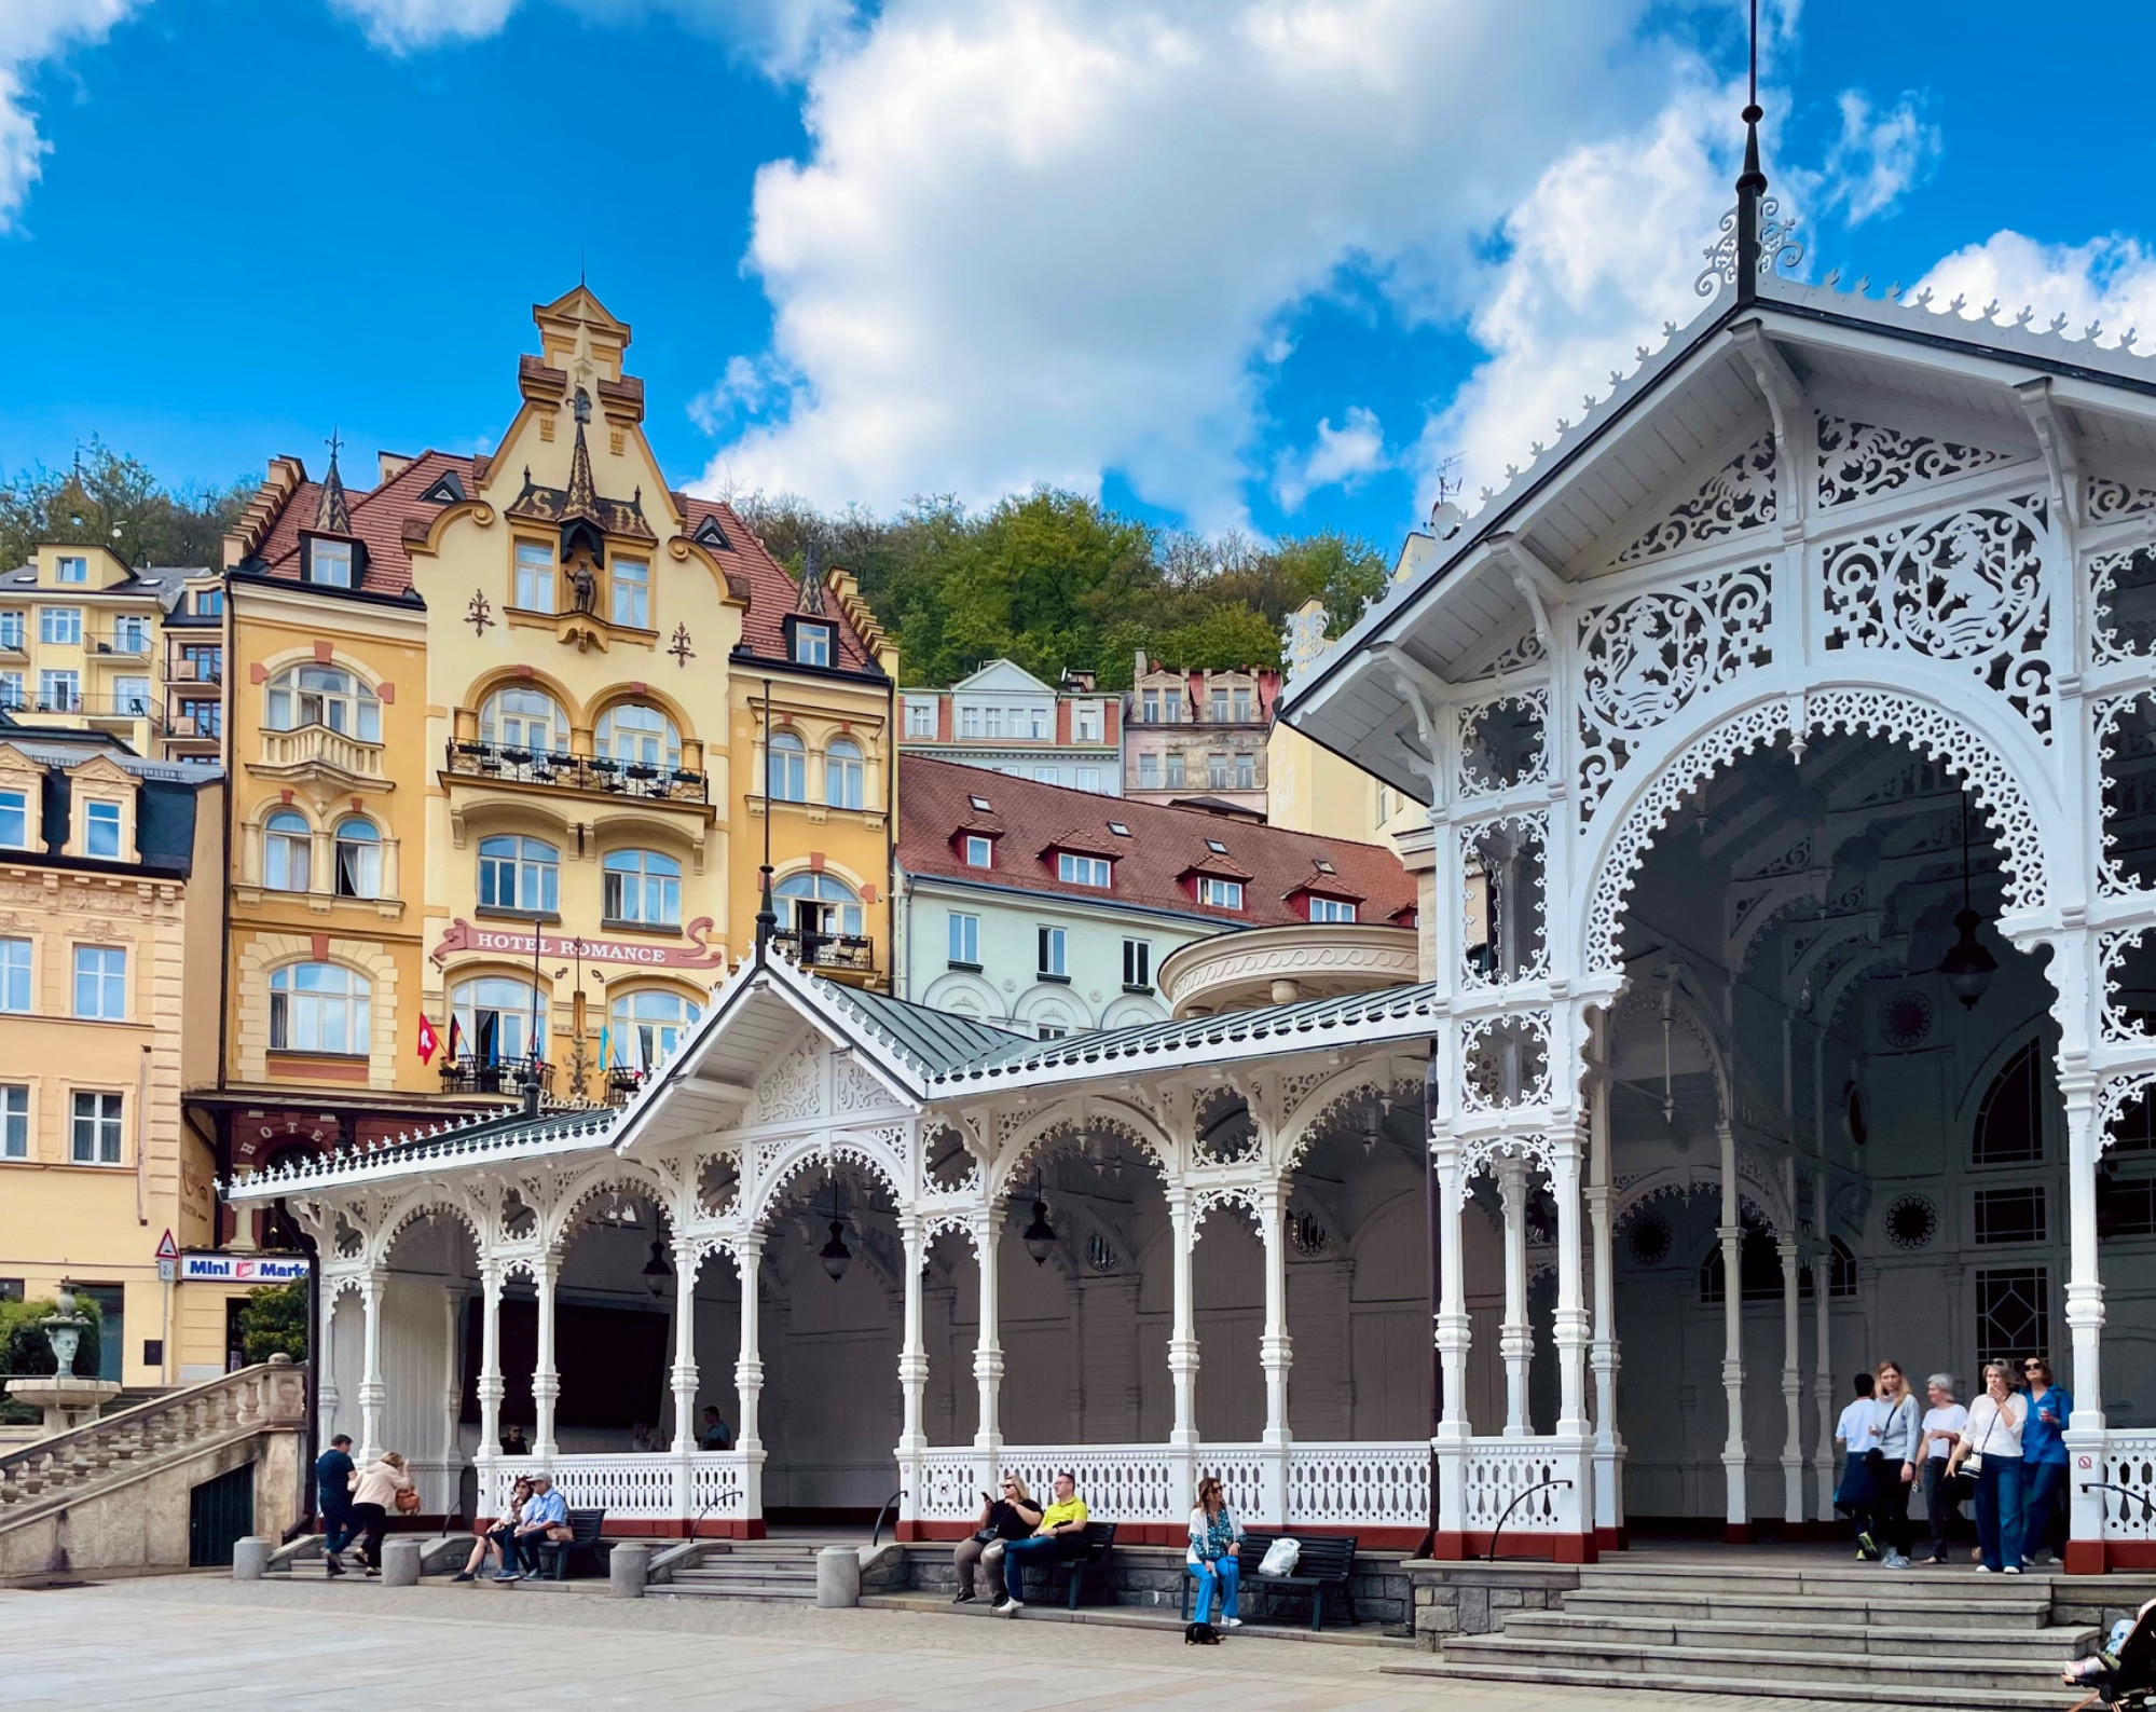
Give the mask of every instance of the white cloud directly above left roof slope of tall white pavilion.
M 1736 201 L 1740 99 L 1695 78 L 1639 132 L 1552 162 L 1505 218 L 1507 254 L 1468 321 L 1490 358 L 1423 431 L 1423 505 L 1447 457 L 1470 496 L 1503 487 L 1507 464 L 1526 466 L 1559 420 L 1580 420 L 1587 395 L 1608 397 L 1613 369 L 1639 367 L 1641 343 L 1660 343 L 1647 328 L 1703 306 L 1692 282 Z

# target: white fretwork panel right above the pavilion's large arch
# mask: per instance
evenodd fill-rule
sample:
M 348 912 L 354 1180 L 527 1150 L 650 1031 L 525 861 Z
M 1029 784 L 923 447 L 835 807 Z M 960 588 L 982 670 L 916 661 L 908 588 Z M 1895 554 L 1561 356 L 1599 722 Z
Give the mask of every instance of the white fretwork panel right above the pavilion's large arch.
M 2050 742 L 2044 502 L 1973 505 L 1826 550 L 1822 643 L 1966 664 Z

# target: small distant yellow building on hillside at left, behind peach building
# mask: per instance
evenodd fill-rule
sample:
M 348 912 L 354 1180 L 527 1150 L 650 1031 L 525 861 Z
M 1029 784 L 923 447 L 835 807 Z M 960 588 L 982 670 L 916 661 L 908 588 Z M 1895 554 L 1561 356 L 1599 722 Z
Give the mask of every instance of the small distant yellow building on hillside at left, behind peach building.
M 101 546 L 37 548 L 28 565 L 0 576 L 0 709 L 166 755 L 164 627 L 175 608 L 190 623 L 198 593 L 209 593 L 213 612 L 213 582 L 201 569 L 129 569 Z

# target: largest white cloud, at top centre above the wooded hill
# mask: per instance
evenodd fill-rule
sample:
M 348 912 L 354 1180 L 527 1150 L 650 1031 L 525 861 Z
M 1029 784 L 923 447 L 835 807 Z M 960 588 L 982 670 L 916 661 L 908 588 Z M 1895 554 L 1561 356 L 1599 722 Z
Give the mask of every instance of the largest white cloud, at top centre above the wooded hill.
M 1641 4 L 888 0 L 759 175 L 791 395 L 709 479 L 882 507 L 1112 468 L 1238 522 L 1281 313 L 1345 263 L 1457 313 L 1552 144 L 1664 97 Z

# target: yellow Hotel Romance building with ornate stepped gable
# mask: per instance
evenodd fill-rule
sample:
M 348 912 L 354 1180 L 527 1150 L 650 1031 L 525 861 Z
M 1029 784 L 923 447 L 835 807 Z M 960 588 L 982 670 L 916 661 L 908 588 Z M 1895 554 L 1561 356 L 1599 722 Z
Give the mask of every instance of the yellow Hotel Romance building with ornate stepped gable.
M 226 543 L 235 1166 L 448 1106 L 619 1097 L 755 942 L 772 858 L 817 964 L 886 981 L 897 660 L 668 487 L 630 328 L 582 287 L 492 455 L 278 459 Z M 737 837 L 748 832 L 748 843 Z M 425 1050 L 425 1044 L 433 1050 Z

